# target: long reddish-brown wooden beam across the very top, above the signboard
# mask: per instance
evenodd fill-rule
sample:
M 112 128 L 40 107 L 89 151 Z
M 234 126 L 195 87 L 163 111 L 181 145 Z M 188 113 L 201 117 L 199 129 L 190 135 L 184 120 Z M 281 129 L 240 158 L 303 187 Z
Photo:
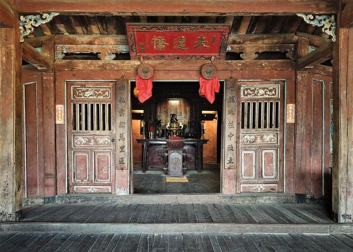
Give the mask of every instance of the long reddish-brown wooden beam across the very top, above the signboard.
M 219 16 L 295 13 L 337 13 L 333 0 L 18 0 L 19 13 L 58 12 L 114 16 Z

